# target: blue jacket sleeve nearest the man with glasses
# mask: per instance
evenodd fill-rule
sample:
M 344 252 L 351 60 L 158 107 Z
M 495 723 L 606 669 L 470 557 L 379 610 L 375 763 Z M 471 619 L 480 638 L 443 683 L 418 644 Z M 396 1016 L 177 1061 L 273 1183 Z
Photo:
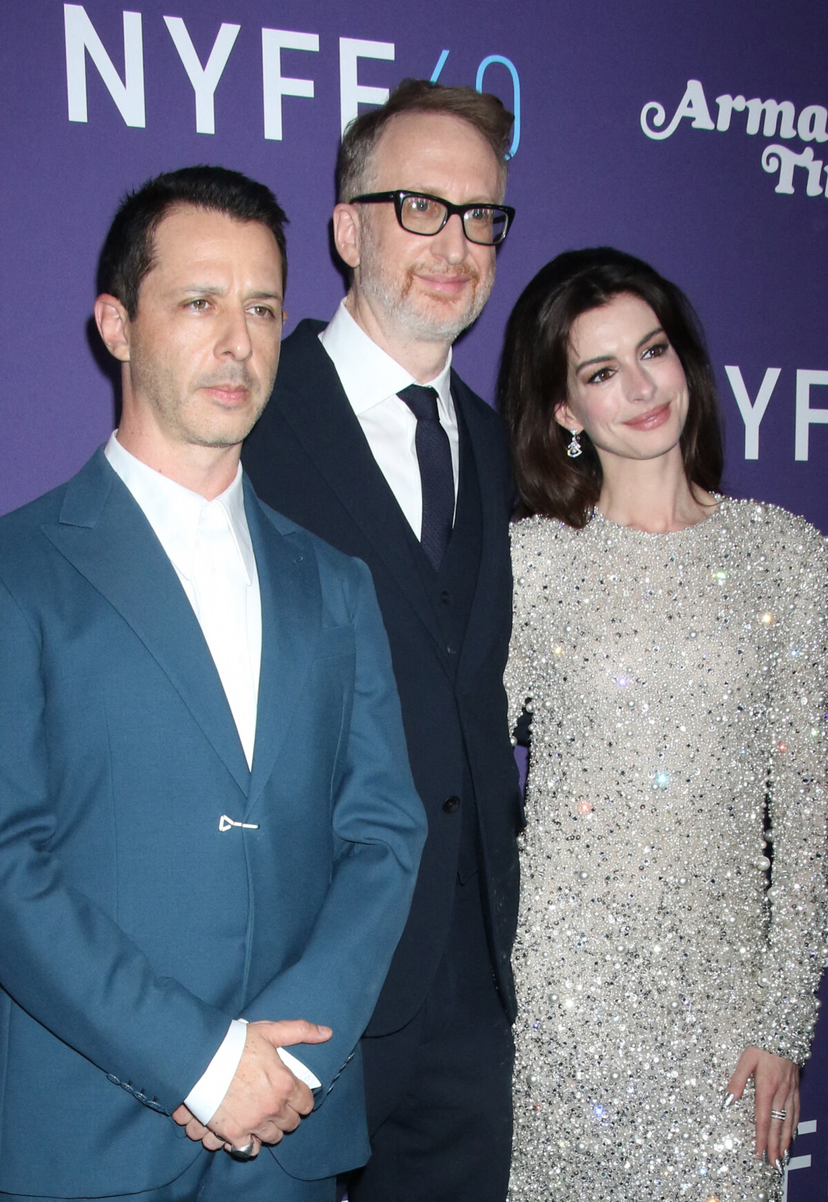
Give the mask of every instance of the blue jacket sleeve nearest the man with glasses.
M 317 1106 L 371 1016 L 409 914 L 427 833 L 374 585 L 364 564 L 355 571 L 356 688 L 332 789 L 330 883 L 302 956 L 244 1014 L 252 1022 L 296 1013 L 333 1029 L 328 1042 L 300 1048 L 303 1065 L 322 1083 Z

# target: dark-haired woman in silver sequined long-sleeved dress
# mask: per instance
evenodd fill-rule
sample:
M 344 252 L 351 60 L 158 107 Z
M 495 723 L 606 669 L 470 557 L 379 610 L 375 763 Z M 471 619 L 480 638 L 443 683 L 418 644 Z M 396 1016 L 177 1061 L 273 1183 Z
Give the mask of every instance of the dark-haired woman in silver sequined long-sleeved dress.
M 769 1202 L 826 948 L 824 540 L 719 495 L 679 290 L 559 256 L 510 319 L 531 712 L 512 1202 Z

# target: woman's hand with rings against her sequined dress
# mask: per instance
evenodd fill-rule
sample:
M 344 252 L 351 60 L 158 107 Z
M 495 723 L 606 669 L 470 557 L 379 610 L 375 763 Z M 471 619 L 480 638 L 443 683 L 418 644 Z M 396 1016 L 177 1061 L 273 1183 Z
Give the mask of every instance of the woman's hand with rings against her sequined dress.
M 731 1101 L 741 1097 L 750 1077 L 756 1095 L 756 1155 L 767 1152 L 769 1162 L 781 1172 L 781 1158 L 799 1126 L 799 1065 L 762 1048 L 745 1048 L 727 1082 Z M 727 1099 L 725 1106 L 729 1106 Z M 785 1119 L 772 1118 L 772 1111 L 785 1111 Z

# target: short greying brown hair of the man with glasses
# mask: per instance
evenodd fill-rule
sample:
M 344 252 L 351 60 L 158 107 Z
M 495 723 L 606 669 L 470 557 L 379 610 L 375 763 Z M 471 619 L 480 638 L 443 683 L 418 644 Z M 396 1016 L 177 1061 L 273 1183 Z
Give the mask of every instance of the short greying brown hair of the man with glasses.
M 510 131 L 514 117 L 496 96 L 473 88 L 447 88 L 429 79 L 403 79 L 381 108 L 355 117 L 346 127 L 336 159 L 336 191 L 346 203 L 370 184 L 371 155 L 386 125 L 403 113 L 441 113 L 459 117 L 483 135 L 492 147 L 506 191 Z

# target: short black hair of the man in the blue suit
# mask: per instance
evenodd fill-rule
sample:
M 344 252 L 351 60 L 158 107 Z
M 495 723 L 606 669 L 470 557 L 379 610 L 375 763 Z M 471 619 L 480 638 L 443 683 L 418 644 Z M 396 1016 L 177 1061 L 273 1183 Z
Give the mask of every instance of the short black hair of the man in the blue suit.
M 267 226 L 279 246 L 285 287 L 287 218 L 270 189 L 226 167 L 181 167 L 155 175 L 127 192 L 103 243 L 99 288 L 118 297 L 131 320 L 138 311 L 141 282 L 153 266 L 155 231 L 171 209 L 185 206 Z

